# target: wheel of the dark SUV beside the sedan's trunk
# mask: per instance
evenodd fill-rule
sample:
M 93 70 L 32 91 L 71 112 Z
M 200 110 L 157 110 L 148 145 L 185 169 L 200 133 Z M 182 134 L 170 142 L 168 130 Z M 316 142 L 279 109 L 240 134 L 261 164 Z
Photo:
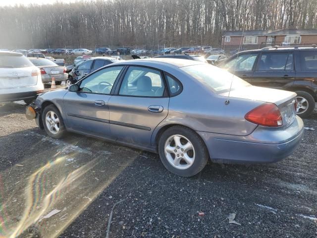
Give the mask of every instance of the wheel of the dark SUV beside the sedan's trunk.
M 310 116 L 315 109 L 315 99 L 313 96 L 305 91 L 296 91 L 297 108 L 296 114 L 301 118 Z

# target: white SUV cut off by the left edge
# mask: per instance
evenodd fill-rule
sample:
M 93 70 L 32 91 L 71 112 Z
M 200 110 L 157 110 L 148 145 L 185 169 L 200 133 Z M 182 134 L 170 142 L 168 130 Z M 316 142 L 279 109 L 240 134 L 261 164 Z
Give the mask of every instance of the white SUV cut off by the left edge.
M 43 91 L 38 67 L 20 53 L 0 52 L 0 102 L 29 104 Z

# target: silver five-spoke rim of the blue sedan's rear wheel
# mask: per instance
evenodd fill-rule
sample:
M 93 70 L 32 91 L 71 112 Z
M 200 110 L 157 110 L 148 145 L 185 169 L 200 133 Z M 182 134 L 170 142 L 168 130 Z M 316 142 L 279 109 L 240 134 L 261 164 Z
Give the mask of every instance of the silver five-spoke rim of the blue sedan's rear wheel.
M 186 170 L 191 167 L 195 160 L 195 149 L 185 136 L 172 135 L 164 146 L 167 161 L 176 169 Z

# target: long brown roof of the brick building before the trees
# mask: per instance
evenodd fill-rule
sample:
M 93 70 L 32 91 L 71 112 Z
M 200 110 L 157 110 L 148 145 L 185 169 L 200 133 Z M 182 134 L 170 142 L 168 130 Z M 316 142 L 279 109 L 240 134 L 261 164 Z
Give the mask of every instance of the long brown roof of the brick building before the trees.
M 278 35 L 317 35 L 317 29 L 224 31 L 223 36 L 278 36 Z

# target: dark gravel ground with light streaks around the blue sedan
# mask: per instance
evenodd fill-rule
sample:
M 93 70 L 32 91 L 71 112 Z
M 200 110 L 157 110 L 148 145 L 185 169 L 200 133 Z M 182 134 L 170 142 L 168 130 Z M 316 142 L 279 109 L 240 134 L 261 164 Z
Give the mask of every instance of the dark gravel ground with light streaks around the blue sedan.
M 106 237 L 121 200 L 110 238 L 317 237 L 317 113 L 304 120 L 316 130 L 289 158 L 210 163 L 186 179 L 156 154 L 76 134 L 47 137 L 24 112 L 0 104 L 0 237 Z

